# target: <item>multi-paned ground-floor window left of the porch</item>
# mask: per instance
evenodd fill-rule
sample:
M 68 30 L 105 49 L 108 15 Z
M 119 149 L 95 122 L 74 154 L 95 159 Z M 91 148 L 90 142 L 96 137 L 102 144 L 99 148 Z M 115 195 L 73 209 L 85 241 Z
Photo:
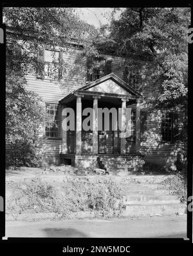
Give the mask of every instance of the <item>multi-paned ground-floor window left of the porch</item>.
M 50 118 L 50 122 L 54 121 L 53 125 L 46 126 L 46 136 L 51 138 L 59 138 L 59 105 L 46 103 L 46 111 Z

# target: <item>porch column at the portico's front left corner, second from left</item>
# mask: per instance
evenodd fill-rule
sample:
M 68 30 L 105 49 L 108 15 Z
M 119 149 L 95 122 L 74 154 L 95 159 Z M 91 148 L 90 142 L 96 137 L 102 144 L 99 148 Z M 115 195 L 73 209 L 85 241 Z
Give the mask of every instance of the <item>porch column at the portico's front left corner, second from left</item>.
M 77 94 L 76 154 L 82 153 L 82 95 Z

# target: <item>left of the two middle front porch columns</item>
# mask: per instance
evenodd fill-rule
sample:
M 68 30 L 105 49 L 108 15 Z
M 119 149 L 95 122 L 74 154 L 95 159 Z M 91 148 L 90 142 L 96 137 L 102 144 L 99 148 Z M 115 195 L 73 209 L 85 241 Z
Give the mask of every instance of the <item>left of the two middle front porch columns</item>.
M 93 96 L 93 154 L 98 154 L 98 99 L 100 96 Z

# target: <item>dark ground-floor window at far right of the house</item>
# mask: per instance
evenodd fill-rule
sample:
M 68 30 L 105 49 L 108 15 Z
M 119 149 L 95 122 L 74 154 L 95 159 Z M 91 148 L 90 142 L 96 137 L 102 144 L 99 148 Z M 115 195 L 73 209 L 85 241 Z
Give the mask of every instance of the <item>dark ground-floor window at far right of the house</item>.
M 174 142 L 178 139 L 178 115 L 174 113 L 162 113 L 161 136 L 163 142 Z

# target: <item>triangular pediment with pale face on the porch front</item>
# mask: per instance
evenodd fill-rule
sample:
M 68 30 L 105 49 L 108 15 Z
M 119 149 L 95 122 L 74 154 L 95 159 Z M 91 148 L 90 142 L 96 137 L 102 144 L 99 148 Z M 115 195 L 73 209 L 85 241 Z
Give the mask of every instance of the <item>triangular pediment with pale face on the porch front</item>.
M 125 96 L 142 97 L 136 90 L 129 87 L 125 81 L 121 80 L 115 74 L 111 73 L 103 78 L 93 81 L 86 86 L 80 88 L 81 91 L 102 92 L 108 94 L 121 94 Z

